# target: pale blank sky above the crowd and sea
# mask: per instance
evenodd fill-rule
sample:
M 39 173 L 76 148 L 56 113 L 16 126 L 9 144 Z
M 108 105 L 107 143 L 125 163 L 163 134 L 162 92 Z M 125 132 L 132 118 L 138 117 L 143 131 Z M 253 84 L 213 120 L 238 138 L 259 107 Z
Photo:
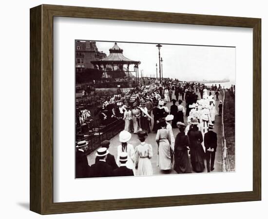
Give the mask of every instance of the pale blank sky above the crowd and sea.
M 108 56 L 115 42 L 96 41 L 99 51 Z M 159 74 L 158 48 L 156 44 L 117 42 L 123 55 L 140 61 L 139 70 L 144 76 Z M 162 44 L 163 76 L 179 80 L 222 80 L 235 82 L 235 48 Z M 133 68 L 130 67 L 130 70 Z

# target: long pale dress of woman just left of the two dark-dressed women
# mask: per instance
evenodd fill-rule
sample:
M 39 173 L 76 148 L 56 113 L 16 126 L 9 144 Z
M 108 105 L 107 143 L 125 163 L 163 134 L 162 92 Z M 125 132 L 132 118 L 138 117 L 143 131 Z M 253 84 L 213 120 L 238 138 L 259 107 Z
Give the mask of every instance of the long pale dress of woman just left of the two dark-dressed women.
M 157 130 L 155 141 L 158 143 L 159 167 L 161 170 L 171 169 L 170 132 L 166 128 Z

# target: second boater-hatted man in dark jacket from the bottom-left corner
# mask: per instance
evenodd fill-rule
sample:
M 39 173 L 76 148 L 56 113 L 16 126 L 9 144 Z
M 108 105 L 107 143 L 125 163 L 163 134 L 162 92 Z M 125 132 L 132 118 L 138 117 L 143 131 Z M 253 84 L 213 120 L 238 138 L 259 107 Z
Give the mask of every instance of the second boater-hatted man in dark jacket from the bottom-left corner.
M 93 177 L 112 177 L 113 168 L 106 163 L 107 154 L 109 150 L 106 147 L 97 149 L 96 156 L 99 157 L 98 161 L 91 167 L 93 169 Z

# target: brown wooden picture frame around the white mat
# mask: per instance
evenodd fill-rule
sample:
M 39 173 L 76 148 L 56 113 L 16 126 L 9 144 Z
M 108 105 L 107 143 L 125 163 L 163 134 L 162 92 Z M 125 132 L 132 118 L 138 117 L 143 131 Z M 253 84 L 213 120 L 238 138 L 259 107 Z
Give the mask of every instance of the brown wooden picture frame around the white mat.
M 53 18 L 98 18 L 253 28 L 253 191 L 53 202 Z M 261 19 L 59 5 L 30 9 L 30 210 L 39 214 L 261 200 Z

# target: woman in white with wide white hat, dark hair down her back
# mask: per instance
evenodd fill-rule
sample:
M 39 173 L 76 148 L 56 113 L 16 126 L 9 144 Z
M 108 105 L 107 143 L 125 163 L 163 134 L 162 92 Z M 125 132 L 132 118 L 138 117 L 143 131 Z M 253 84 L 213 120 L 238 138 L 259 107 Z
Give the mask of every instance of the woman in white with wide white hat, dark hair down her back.
M 133 170 L 133 173 L 135 175 L 135 151 L 133 145 L 129 144 L 128 141 L 131 139 L 131 133 L 129 133 L 126 130 L 123 130 L 119 133 L 119 141 L 121 142 L 121 145 L 117 146 L 117 158 L 116 158 L 116 164 L 120 166 L 120 154 L 122 152 L 126 152 L 128 154 L 128 161 L 126 163 L 126 166 L 129 169 Z

